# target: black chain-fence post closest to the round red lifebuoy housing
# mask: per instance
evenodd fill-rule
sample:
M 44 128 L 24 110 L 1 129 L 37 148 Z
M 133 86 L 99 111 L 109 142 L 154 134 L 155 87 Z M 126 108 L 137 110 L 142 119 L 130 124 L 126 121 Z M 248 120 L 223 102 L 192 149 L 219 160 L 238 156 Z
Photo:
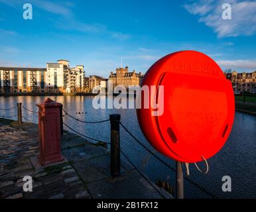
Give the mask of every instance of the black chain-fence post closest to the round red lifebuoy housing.
M 121 115 L 109 115 L 111 124 L 110 170 L 112 178 L 120 176 L 120 119 Z

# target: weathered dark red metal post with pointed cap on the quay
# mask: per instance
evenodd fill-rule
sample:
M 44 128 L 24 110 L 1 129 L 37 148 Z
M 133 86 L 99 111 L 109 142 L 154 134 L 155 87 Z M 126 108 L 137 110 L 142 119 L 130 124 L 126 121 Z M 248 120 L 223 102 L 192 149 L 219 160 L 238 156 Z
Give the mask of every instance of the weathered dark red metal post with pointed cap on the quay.
M 60 144 L 60 107 L 62 107 L 62 104 L 48 98 L 36 106 L 39 107 L 40 163 L 44 166 L 60 162 L 64 160 Z

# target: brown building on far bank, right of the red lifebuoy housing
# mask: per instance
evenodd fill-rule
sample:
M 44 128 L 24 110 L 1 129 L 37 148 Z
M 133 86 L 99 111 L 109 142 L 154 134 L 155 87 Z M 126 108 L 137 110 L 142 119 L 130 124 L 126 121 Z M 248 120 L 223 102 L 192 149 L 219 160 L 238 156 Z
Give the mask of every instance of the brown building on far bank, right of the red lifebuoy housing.
M 256 93 L 256 71 L 251 73 L 225 73 L 233 85 L 234 93 Z

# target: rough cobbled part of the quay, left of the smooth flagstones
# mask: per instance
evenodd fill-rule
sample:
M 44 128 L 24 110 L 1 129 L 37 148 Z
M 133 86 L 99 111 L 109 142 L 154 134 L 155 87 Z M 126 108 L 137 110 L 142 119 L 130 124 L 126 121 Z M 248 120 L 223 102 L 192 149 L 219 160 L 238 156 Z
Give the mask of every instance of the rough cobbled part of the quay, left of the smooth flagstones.
M 0 199 L 90 198 L 76 170 L 66 160 L 54 166 L 38 164 L 38 137 L 0 124 Z M 32 192 L 23 191 L 23 178 L 33 179 Z

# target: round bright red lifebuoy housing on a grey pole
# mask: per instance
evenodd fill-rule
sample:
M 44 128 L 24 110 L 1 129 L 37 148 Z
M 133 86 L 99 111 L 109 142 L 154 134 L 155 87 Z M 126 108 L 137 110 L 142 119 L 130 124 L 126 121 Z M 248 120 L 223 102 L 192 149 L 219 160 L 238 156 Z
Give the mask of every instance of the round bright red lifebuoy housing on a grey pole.
M 164 86 L 164 111 L 153 116 L 151 104 L 137 109 L 143 134 L 159 152 L 180 162 L 211 158 L 224 146 L 233 126 L 231 82 L 212 58 L 195 51 L 169 54 L 147 72 L 143 85 Z M 159 90 L 151 90 L 156 100 Z

